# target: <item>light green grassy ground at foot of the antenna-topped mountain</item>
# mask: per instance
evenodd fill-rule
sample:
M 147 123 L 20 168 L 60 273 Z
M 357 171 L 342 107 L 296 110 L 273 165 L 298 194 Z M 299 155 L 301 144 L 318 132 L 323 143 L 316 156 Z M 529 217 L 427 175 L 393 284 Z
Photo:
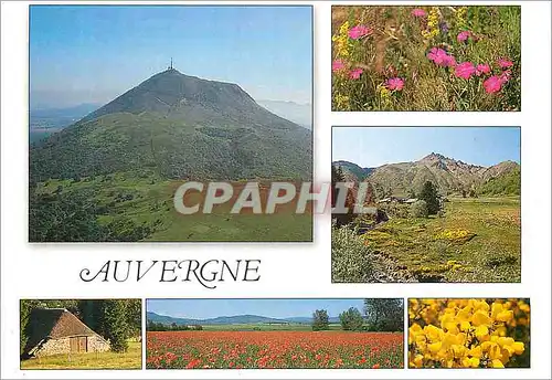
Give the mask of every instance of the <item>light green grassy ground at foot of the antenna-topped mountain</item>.
M 312 215 L 296 214 L 291 204 L 288 209 L 276 209 L 274 214 L 230 214 L 231 205 L 216 207 L 211 214 L 180 214 L 174 210 L 173 194 L 182 183 L 162 180 L 155 172 L 142 170 L 81 181 L 50 180 L 39 184 L 38 193 L 54 193 L 57 189 L 65 194 L 86 193 L 91 202 L 105 210 L 97 218 L 99 224 L 124 221 L 119 223 L 124 228 L 128 228 L 129 222 L 135 226 L 148 226 L 151 233 L 144 241 L 312 241 Z M 267 191 L 262 190 L 262 198 Z M 235 191 L 235 197 L 237 194 Z

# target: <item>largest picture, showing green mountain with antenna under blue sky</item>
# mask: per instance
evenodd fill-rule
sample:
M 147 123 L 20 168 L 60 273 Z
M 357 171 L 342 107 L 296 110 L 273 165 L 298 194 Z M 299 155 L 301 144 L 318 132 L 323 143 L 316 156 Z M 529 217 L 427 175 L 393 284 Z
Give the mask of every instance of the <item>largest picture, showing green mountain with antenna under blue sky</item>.
M 30 242 L 312 241 L 310 209 L 264 212 L 312 180 L 311 7 L 32 6 L 29 29 Z

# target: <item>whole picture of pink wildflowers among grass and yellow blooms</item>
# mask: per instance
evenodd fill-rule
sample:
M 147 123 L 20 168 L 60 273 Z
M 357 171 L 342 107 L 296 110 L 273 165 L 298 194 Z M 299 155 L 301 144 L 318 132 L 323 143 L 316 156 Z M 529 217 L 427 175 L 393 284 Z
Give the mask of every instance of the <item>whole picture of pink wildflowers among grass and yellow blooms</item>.
M 520 7 L 332 7 L 332 110 L 520 108 Z

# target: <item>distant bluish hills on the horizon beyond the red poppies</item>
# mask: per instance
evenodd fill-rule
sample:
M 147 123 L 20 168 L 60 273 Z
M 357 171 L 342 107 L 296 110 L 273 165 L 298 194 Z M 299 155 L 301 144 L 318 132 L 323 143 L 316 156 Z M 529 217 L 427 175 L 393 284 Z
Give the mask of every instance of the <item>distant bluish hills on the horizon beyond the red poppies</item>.
M 216 318 L 208 319 L 190 319 L 190 318 L 179 318 L 169 317 L 164 315 L 159 315 L 152 312 L 146 313 L 146 318 L 148 320 L 155 321 L 157 324 L 163 325 L 255 325 L 255 324 L 311 324 L 311 317 L 289 317 L 289 318 L 270 318 L 263 317 L 258 315 L 236 315 L 236 316 L 223 316 Z M 339 323 L 338 317 L 330 317 L 329 321 L 331 324 Z

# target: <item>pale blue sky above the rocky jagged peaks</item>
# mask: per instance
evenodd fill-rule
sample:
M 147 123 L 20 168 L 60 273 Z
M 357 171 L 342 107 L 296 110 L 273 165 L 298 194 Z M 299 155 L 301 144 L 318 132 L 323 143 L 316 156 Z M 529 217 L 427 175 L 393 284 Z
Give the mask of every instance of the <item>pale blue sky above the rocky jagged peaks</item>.
M 517 127 L 333 127 L 332 161 L 378 167 L 418 160 L 431 152 L 467 163 L 520 162 Z

